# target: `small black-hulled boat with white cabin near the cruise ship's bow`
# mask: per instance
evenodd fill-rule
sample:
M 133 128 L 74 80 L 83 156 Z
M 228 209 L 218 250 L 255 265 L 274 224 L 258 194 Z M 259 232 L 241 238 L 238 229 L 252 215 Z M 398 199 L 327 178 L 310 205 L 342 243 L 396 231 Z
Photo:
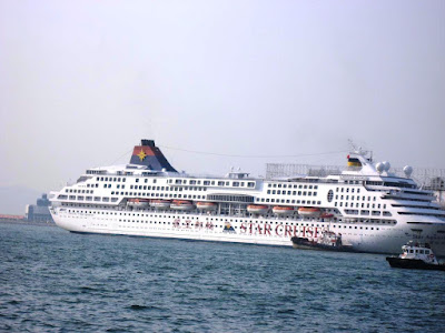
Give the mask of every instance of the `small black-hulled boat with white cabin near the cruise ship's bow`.
M 421 244 L 409 241 L 402 246 L 402 250 L 400 255 L 386 258 L 392 268 L 445 271 L 445 264 L 437 261 L 428 243 Z

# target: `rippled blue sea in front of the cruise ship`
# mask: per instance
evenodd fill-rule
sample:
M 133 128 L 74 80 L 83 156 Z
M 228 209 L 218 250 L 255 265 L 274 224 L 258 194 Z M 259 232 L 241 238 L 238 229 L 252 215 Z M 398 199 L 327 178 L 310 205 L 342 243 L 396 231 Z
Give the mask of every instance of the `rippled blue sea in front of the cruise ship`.
M 445 272 L 330 253 L 0 224 L 0 331 L 444 332 Z

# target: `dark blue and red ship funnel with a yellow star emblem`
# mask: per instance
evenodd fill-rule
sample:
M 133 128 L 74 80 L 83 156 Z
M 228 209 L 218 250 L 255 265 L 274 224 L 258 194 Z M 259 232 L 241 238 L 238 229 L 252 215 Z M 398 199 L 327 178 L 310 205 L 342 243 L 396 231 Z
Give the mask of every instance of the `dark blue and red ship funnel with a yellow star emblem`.
M 140 145 L 135 145 L 130 164 L 146 165 L 155 171 L 177 172 L 167 161 L 162 152 L 156 147 L 154 140 L 141 140 Z

